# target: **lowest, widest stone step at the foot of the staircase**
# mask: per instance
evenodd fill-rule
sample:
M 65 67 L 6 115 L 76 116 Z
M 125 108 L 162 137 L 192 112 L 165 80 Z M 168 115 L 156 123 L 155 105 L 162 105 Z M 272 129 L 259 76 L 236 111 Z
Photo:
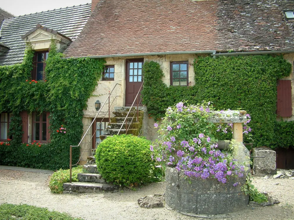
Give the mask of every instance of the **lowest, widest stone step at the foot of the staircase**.
M 63 184 L 64 193 L 71 192 L 118 192 L 119 185 L 111 185 L 108 183 L 96 183 L 96 182 L 66 182 Z

